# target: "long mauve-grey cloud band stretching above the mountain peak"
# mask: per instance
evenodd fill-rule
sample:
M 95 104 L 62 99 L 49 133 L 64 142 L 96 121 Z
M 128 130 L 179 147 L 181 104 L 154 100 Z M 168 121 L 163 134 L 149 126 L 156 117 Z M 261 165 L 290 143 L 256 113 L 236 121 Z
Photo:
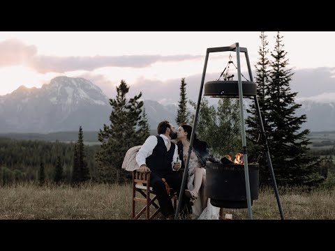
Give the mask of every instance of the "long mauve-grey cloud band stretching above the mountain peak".
M 158 61 L 199 59 L 198 55 L 132 55 L 132 56 L 45 56 L 38 55 L 35 45 L 24 45 L 20 40 L 0 43 L 0 66 L 24 64 L 39 73 L 64 73 L 74 70 L 95 70 L 102 67 L 144 68 Z

